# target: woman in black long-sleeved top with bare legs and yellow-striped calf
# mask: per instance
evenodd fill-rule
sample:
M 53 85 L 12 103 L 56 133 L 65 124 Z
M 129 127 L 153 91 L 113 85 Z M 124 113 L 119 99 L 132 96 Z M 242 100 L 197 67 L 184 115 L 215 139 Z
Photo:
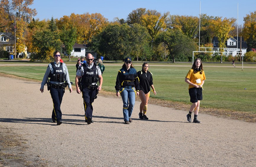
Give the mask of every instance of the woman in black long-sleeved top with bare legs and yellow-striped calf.
M 148 63 L 142 64 L 142 70 L 137 72 L 140 81 L 140 113 L 139 118 L 148 120 L 146 116 L 148 109 L 148 99 L 150 96 L 150 87 L 153 89 L 154 94 L 156 95 L 156 91 L 153 85 L 153 77 L 152 73 L 148 71 L 149 65 Z M 143 113 L 142 113 L 143 111 Z

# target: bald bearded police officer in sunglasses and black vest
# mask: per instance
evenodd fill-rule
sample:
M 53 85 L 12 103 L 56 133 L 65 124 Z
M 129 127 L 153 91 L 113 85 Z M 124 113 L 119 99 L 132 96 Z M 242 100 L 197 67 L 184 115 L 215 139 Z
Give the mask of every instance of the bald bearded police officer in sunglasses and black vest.
M 86 63 L 82 64 L 77 70 L 76 74 L 76 88 L 77 93 L 80 94 L 82 91 L 82 98 L 84 101 L 85 108 L 85 122 L 87 124 L 93 123 L 92 115 L 93 115 L 93 106 L 92 103 L 94 101 L 96 92 L 101 90 L 103 78 L 101 75 L 101 69 L 95 63 L 93 63 L 93 55 L 88 53 L 86 55 Z M 82 77 L 82 78 L 81 78 Z M 79 87 L 79 79 L 81 78 L 81 90 Z M 97 86 L 97 82 L 99 81 L 99 86 Z

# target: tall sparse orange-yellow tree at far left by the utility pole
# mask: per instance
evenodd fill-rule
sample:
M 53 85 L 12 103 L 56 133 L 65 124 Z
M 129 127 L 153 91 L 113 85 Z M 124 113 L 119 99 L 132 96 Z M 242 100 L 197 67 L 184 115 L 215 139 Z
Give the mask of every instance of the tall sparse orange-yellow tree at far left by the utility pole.
M 1 14 L 1 17 L 3 17 L 0 19 L 0 23 L 3 22 L 5 29 L 13 34 L 14 17 L 16 17 L 17 52 L 24 51 L 28 22 L 37 14 L 35 9 L 29 8 L 32 4 L 33 0 L 12 0 L 11 3 L 8 0 L 1 0 L 0 3 L 1 13 L 3 13 L 3 15 Z M 6 20 L 3 21 L 3 19 Z

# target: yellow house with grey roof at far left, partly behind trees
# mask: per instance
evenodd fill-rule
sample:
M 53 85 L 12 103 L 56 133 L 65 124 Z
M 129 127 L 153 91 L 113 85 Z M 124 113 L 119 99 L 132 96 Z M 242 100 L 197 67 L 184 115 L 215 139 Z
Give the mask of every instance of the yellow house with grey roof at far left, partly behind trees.
M 12 33 L 5 33 L 5 32 L 0 32 L 0 47 L 4 50 L 7 51 L 10 55 L 14 54 L 15 48 L 14 48 L 14 35 Z M 24 55 L 25 54 L 25 55 Z M 17 55 L 19 56 L 27 56 L 27 47 L 23 49 L 21 53 L 18 53 Z

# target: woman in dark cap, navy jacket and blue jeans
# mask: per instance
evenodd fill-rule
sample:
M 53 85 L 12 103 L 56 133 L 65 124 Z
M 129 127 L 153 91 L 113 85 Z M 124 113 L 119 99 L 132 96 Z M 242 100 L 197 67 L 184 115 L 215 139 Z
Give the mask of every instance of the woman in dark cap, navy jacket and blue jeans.
M 122 97 L 124 123 L 132 122 L 132 111 L 135 104 L 135 95 L 139 95 L 140 84 L 137 71 L 132 64 L 132 59 L 127 57 L 124 60 L 122 68 L 118 71 L 116 77 L 116 96 Z

